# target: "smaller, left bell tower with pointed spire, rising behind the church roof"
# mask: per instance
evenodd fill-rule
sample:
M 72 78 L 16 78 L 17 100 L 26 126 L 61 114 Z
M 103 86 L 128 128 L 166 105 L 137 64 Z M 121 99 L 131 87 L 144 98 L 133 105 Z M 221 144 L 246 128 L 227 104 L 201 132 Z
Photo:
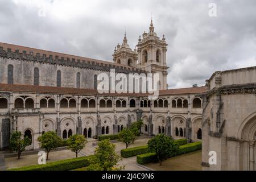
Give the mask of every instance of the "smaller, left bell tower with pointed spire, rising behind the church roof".
M 122 46 L 119 44 L 114 49 L 113 61 L 118 64 L 129 65 L 130 67 L 136 67 L 138 60 L 138 53 L 136 47 L 134 51 L 127 44 L 126 33 L 123 38 Z

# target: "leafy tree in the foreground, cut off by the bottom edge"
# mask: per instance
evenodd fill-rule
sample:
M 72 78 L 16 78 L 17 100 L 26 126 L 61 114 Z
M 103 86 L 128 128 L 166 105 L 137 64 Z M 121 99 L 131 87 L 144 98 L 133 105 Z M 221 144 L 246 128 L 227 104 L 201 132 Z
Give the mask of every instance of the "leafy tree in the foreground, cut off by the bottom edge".
M 86 168 L 88 171 L 113 171 L 123 167 L 118 167 L 117 163 L 121 157 L 115 152 L 115 144 L 110 143 L 109 139 L 98 143 L 95 154 Z

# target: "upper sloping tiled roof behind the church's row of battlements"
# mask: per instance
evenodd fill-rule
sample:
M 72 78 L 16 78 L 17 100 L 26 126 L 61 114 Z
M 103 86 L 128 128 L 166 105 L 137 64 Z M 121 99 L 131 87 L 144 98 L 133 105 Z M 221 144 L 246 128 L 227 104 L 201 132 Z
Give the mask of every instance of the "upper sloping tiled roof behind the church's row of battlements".
M 47 57 L 49 57 L 49 55 L 52 55 L 53 57 L 55 57 L 55 56 L 64 57 L 64 58 L 69 57 L 70 59 L 73 58 L 73 59 L 76 59 L 76 60 L 79 59 L 79 60 L 86 60 L 86 61 L 95 61 L 96 63 L 112 64 L 112 65 L 119 65 L 119 66 L 123 66 L 123 67 L 127 67 L 127 68 L 133 68 L 133 67 L 129 67 L 128 65 L 117 64 L 117 63 L 113 63 L 113 62 L 110 62 L 110 61 L 102 61 L 102 60 L 92 59 L 92 58 L 88 58 L 88 57 L 68 55 L 66 53 L 46 51 L 46 50 L 43 50 L 43 49 L 36 49 L 36 48 L 31 48 L 31 47 L 18 46 L 18 45 L 2 43 L 2 42 L 0 42 L 0 47 L 3 47 L 3 50 L 7 50 L 7 48 L 11 48 L 11 51 L 13 51 L 13 52 L 15 52 L 16 49 L 18 49 L 20 53 L 22 53 L 22 51 L 27 51 L 27 53 L 33 52 L 34 55 L 36 53 L 40 53 L 40 55 L 45 54 Z

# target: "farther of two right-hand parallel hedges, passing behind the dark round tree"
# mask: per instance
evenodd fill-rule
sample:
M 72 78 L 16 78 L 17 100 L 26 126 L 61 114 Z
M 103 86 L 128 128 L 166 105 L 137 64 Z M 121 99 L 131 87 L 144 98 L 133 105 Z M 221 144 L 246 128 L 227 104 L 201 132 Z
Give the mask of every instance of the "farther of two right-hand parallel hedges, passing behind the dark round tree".
M 174 143 L 176 143 L 178 146 L 181 146 L 181 145 L 187 144 L 187 139 L 177 139 L 177 140 L 174 140 Z M 148 152 L 147 146 L 139 146 L 139 147 L 126 148 L 121 150 L 121 156 L 123 158 L 129 158 L 131 156 L 146 154 L 147 152 Z

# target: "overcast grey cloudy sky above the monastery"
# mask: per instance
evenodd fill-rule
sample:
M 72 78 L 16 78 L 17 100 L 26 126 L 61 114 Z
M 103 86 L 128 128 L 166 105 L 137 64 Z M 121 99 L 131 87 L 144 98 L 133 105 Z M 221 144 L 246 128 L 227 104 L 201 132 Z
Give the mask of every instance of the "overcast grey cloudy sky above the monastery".
M 209 3 L 217 16 L 209 16 Z M 168 43 L 169 88 L 256 65 L 255 0 L 0 0 L 0 42 L 112 61 L 125 27 L 134 48 L 151 12 Z

